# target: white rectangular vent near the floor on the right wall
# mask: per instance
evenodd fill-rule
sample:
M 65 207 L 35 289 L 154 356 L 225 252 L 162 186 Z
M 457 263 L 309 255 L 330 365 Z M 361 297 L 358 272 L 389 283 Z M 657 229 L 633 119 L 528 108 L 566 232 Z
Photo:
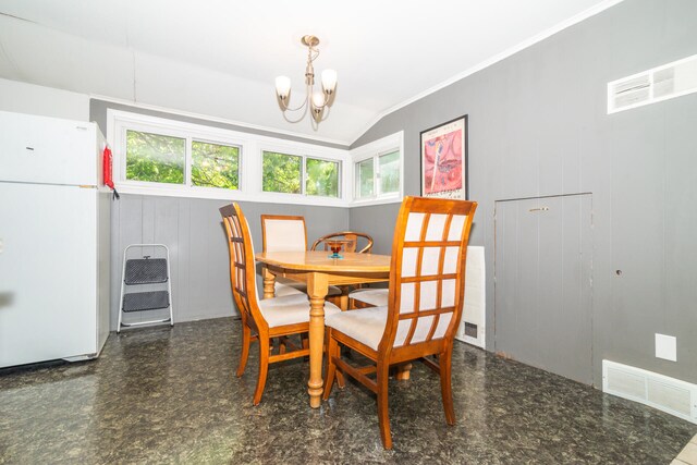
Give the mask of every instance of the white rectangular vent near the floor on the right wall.
M 697 424 L 697 384 L 602 360 L 602 391 Z

